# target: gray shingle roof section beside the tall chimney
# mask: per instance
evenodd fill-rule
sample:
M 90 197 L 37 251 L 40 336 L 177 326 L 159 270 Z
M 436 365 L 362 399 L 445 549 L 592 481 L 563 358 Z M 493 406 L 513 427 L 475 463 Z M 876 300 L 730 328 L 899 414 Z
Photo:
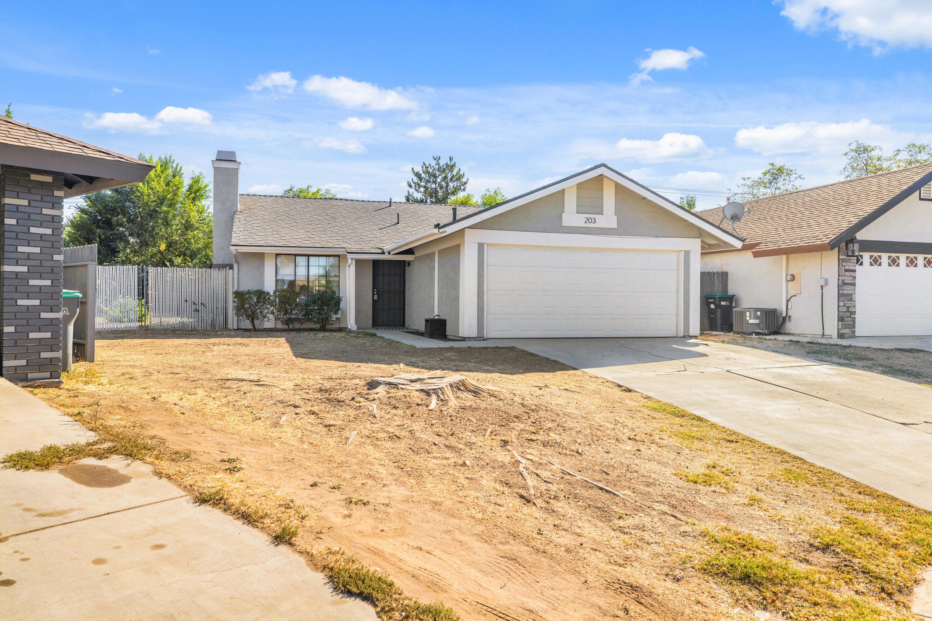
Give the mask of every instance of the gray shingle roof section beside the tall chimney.
M 462 218 L 482 207 L 457 207 Z M 449 205 L 349 198 L 295 198 L 241 194 L 233 219 L 233 246 L 339 248 L 381 252 L 407 237 L 448 223 Z

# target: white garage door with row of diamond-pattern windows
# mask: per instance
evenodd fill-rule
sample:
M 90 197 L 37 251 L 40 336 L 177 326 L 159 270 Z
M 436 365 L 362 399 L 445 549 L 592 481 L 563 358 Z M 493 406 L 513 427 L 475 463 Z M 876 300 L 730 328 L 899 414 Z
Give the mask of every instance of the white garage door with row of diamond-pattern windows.
M 864 254 L 855 300 L 857 336 L 932 334 L 932 256 Z

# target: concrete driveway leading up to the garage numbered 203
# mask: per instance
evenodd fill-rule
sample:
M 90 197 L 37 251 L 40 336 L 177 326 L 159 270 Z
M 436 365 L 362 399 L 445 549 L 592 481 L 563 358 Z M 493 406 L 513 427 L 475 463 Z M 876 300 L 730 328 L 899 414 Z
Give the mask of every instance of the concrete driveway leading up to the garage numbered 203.
M 932 510 L 932 388 L 691 339 L 498 339 Z

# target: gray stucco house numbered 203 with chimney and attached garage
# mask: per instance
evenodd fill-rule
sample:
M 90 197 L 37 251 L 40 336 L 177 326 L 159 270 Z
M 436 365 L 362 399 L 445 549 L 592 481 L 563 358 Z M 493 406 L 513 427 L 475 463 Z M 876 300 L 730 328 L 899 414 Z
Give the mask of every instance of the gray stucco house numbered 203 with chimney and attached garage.
M 214 263 L 240 290 L 334 288 L 350 330 L 695 335 L 700 251 L 741 245 L 605 164 L 489 208 L 240 195 L 235 154 L 213 169 Z

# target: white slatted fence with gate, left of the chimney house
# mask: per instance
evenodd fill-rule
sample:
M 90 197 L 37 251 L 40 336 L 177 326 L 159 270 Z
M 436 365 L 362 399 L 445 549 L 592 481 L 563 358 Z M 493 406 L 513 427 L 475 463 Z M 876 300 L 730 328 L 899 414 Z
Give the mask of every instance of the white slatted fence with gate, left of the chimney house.
M 226 330 L 226 269 L 97 267 L 97 330 Z

